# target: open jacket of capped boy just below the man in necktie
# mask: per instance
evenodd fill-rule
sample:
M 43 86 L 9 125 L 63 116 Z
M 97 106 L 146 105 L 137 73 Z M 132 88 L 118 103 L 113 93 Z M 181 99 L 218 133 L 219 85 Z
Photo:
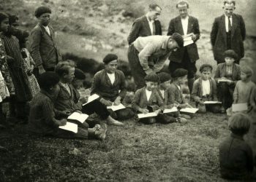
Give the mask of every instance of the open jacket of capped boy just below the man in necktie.
M 241 79 L 240 78 L 240 66 L 236 63 L 233 63 L 233 71 L 232 71 L 232 80 L 236 82 Z M 217 69 L 215 71 L 214 79 L 218 83 L 218 79 L 225 77 L 226 74 L 226 63 L 219 63 Z

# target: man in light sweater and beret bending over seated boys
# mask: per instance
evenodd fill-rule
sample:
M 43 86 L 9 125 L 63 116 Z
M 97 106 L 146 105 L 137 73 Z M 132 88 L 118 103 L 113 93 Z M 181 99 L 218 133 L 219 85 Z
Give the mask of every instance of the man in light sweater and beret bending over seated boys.
M 183 47 L 184 41 L 179 33 L 172 36 L 138 37 L 128 50 L 129 66 L 137 89 L 145 86 L 144 77 L 159 72 L 170 52 Z

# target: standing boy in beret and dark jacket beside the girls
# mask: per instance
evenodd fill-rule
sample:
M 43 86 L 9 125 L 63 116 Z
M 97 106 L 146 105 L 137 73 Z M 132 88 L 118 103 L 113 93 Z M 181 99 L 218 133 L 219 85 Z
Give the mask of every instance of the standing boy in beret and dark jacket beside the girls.
M 36 63 L 34 75 L 37 77 L 45 71 L 54 71 L 56 64 L 61 61 L 54 31 L 49 25 L 50 14 L 48 7 L 38 7 L 34 13 L 39 23 L 31 31 L 29 50 Z

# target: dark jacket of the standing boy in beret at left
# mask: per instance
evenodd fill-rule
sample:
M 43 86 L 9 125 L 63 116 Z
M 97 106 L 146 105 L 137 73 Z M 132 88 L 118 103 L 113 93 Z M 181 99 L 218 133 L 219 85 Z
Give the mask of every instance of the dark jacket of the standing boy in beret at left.
M 36 63 L 36 67 L 42 65 L 44 68 L 54 68 L 61 61 L 59 49 L 56 46 L 54 31 L 49 26 L 50 35 L 41 24 L 37 24 L 31 31 L 29 37 L 29 51 Z

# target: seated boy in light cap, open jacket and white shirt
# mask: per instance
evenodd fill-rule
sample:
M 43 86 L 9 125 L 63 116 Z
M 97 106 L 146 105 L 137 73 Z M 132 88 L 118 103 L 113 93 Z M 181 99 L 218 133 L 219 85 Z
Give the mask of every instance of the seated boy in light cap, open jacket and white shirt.
M 195 100 L 195 105 L 199 108 L 199 113 L 211 111 L 218 113 L 220 110 L 219 104 L 204 104 L 204 101 L 217 101 L 217 86 L 214 79 L 211 78 L 212 66 L 203 64 L 200 66 L 200 77 L 195 80 L 191 97 Z

